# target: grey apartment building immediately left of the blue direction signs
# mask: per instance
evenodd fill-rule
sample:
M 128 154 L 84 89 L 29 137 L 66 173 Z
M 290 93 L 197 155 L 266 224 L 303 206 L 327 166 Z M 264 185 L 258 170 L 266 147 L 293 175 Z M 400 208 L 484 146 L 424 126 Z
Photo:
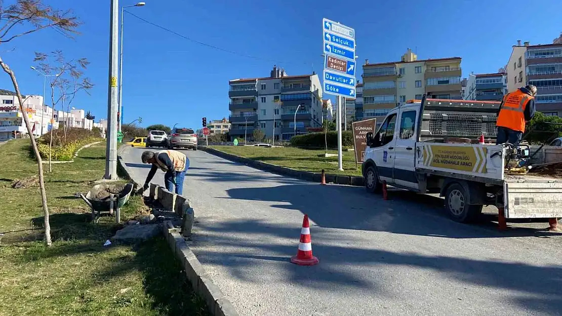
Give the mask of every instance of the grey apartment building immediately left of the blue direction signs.
M 229 81 L 230 136 L 248 139 L 255 129 L 266 138 L 289 140 L 322 126 L 322 90 L 317 74 L 289 76 L 277 66 L 269 77 Z M 296 121 L 296 122 L 295 122 Z M 296 123 L 296 125 L 295 125 Z

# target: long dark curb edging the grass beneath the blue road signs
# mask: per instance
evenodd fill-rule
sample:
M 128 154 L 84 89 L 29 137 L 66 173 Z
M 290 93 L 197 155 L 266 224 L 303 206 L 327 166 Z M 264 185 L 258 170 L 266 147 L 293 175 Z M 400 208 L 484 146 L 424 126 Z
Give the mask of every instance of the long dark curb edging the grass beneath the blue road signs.
M 210 153 L 217 157 L 228 159 L 229 161 L 243 163 L 246 164 L 247 166 L 259 170 L 273 172 L 273 173 L 277 173 L 278 175 L 288 176 L 288 177 L 297 178 L 306 181 L 320 182 L 320 173 L 300 171 L 287 167 L 281 167 L 275 164 L 270 164 L 266 162 L 256 161 L 250 158 L 244 158 L 237 155 L 228 154 L 225 152 L 221 152 L 220 150 L 216 150 L 206 146 L 199 146 L 199 148 L 204 152 Z M 341 185 L 364 186 L 363 177 L 334 175 L 333 173 L 326 173 L 326 182 L 341 184 Z

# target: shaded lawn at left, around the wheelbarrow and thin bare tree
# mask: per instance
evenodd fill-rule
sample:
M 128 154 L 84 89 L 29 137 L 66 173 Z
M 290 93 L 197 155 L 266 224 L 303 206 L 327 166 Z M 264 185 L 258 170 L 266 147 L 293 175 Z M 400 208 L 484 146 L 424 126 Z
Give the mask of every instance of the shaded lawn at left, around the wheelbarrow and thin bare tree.
M 0 168 L 0 315 L 208 315 L 164 239 L 103 246 L 118 228 L 114 218 L 93 225 L 87 205 L 74 197 L 103 176 L 103 144 L 46 172 L 53 245 L 45 246 L 38 187 L 10 186 L 37 173 L 28 146 L 26 140 L 0 146 L 6 158 Z M 121 218 L 134 217 L 142 205 L 133 197 Z

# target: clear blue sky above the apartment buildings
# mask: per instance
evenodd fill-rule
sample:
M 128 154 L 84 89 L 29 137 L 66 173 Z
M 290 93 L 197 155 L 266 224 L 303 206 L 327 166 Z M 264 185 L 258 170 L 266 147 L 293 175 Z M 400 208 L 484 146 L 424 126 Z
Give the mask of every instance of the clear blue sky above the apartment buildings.
M 13 1 L 4 1 L 9 4 Z M 71 8 L 84 22 L 75 40 L 52 30 L 4 44 L 1 56 L 16 72 L 24 94 L 42 94 L 43 78 L 29 66 L 34 52 L 61 49 L 69 58 L 88 58 L 87 76 L 96 86 L 74 107 L 107 116 L 110 1 L 46 0 Z M 201 127 L 228 117 L 228 80 L 268 76 L 274 64 L 289 75 L 322 71 L 323 17 L 356 30 L 360 64 L 400 59 L 411 48 L 418 58 L 463 57 L 463 77 L 496 72 L 511 45 L 551 43 L 562 25 L 562 2 L 529 1 L 311 1 L 146 0 L 132 13 L 165 28 L 238 54 L 190 42 L 125 13 L 123 104 L 125 123 Z M 135 1 L 120 1 L 120 5 Z M 409 4 L 411 3 L 411 4 Z M 8 49 L 15 48 L 12 52 Z M 257 58 L 248 58 L 250 55 Z M 358 78 L 360 79 L 358 73 Z M 3 73 L 2 73 L 3 74 Z M 13 90 L 7 75 L 0 88 Z

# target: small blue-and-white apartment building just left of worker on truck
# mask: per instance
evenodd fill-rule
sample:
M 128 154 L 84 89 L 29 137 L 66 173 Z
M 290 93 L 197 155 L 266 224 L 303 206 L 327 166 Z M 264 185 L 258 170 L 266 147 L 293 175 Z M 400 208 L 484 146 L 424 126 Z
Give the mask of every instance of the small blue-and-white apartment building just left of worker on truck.
M 507 74 L 470 74 L 466 81 L 465 100 L 501 101 L 507 93 Z

